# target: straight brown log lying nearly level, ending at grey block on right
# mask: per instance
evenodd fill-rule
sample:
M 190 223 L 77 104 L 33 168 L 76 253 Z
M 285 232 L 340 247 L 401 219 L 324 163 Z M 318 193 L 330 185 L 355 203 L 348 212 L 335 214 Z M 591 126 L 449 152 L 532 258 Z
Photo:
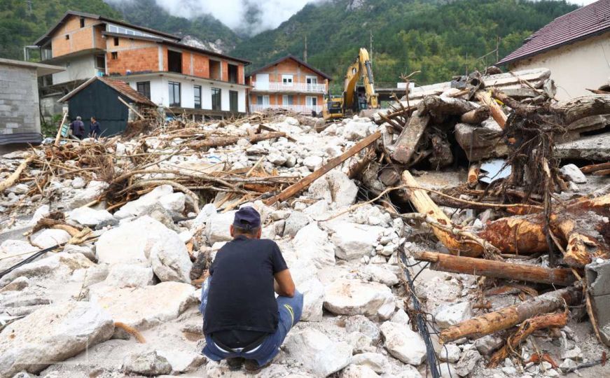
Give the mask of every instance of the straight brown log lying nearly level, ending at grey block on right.
M 570 286 L 576 277 L 571 269 L 550 269 L 538 265 L 515 264 L 483 258 L 467 258 L 436 252 L 416 252 L 415 260 L 430 261 L 430 269 L 441 272 L 464 273 L 517 281 L 550 283 Z

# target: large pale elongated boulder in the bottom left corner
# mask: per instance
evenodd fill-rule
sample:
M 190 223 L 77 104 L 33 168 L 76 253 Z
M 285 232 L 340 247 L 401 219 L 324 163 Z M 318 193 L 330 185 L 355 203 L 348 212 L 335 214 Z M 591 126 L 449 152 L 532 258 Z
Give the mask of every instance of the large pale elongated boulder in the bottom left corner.
M 113 318 L 91 302 L 60 302 L 41 307 L 0 333 L 0 377 L 37 373 L 109 339 Z

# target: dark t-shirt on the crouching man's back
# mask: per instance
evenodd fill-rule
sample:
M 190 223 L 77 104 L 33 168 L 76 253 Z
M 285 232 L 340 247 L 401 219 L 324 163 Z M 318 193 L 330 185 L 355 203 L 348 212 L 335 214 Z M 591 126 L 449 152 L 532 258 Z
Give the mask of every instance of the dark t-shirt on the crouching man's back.
M 279 314 L 273 276 L 284 269 L 288 266 L 275 241 L 240 235 L 225 244 L 209 267 L 204 333 L 242 348 L 275 332 Z

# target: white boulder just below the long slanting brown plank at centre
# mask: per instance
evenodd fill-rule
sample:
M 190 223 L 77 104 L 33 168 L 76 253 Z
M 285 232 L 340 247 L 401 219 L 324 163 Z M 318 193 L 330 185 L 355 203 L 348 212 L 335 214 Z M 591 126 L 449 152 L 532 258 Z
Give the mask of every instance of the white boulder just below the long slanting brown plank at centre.
M 346 174 L 333 169 L 314 181 L 309 193 L 315 200 L 326 200 L 328 203 L 334 202 L 338 207 L 345 207 L 356 201 L 358 187 Z

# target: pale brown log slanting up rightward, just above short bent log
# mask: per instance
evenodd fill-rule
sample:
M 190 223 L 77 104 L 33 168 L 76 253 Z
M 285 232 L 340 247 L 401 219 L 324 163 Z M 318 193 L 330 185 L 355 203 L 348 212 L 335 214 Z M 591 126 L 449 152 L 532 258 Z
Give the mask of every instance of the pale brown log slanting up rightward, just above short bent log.
M 532 318 L 532 316 L 556 311 L 564 306 L 564 304 L 571 306 L 580 304 L 582 301 L 583 289 L 579 285 L 551 291 L 514 306 L 504 307 L 498 311 L 452 325 L 441 331 L 439 339 L 443 343 L 452 342 L 462 337 L 478 339 L 479 337 L 511 328 L 526 321 L 528 318 Z

